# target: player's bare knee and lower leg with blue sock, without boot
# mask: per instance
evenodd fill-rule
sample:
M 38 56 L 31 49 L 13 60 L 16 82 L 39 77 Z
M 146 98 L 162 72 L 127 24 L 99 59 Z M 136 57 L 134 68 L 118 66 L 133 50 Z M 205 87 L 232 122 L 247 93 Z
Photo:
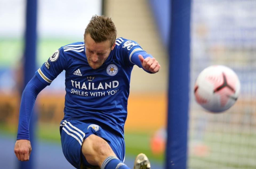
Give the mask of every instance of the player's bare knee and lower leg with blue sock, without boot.
M 83 141 L 82 153 L 88 163 L 101 169 L 129 169 L 117 158 L 109 144 L 97 135 L 91 134 Z

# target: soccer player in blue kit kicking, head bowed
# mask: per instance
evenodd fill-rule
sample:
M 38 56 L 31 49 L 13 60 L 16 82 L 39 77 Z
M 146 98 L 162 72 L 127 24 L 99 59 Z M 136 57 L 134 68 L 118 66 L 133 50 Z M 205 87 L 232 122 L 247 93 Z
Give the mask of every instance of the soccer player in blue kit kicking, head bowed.
M 75 168 L 128 168 L 123 163 L 124 124 L 131 71 L 137 65 L 156 73 L 160 65 L 137 42 L 116 36 L 111 18 L 95 15 L 85 29 L 84 42 L 59 48 L 35 72 L 21 98 L 14 146 L 18 160 L 29 160 L 29 121 L 38 93 L 65 70 L 60 134 L 66 159 Z M 134 168 L 150 168 L 145 154 L 136 157 Z

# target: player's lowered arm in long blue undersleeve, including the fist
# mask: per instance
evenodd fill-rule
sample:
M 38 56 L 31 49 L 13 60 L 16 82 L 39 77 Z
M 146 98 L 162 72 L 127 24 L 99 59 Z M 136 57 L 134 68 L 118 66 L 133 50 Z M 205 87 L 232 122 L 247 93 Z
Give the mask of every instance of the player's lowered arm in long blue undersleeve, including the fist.
M 32 150 L 29 141 L 29 122 L 37 95 L 46 86 L 47 84 L 42 83 L 37 76 L 34 76 L 23 90 L 19 110 L 17 141 L 14 145 L 14 153 L 18 160 L 29 160 Z

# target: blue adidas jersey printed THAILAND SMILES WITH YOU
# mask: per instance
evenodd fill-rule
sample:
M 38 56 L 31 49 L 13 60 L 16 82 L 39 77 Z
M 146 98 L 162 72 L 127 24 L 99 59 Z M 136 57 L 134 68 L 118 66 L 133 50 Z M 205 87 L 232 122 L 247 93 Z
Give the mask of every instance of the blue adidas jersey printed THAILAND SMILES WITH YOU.
M 115 44 L 97 69 L 88 64 L 84 42 L 75 42 L 59 48 L 36 71 L 36 76 L 47 85 L 66 71 L 63 121 L 94 119 L 123 135 L 134 66 L 131 57 L 143 50 L 137 42 L 124 38 L 118 38 Z

